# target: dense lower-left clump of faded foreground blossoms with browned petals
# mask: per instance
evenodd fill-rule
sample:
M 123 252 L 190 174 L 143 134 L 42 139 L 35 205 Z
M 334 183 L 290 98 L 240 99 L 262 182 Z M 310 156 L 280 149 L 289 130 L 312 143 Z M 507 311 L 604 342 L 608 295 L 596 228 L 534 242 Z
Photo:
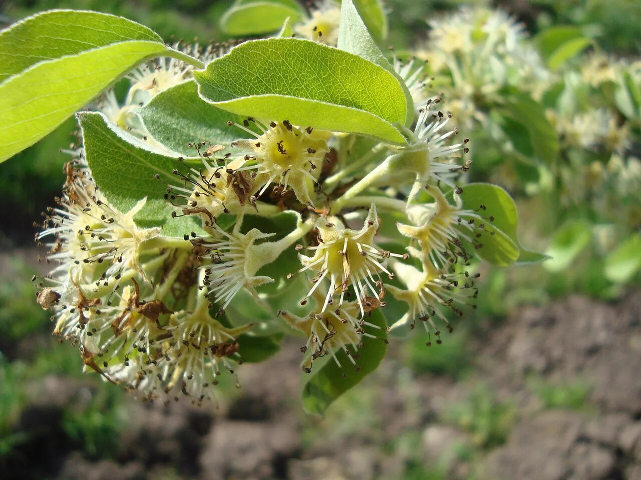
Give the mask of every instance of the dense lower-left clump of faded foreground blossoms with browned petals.
M 144 199 L 118 211 L 86 166 L 72 161 L 65 171 L 63 195 L 36 237 L 54 266 L 37 295 L 53 310 L 54 333 L 77 344 L 86 367 L 106 380 L 148 397 L 176 389 L 212 397 L 210 377 L 219 364 L 232 370 L 236 337 L 251 325 L 227 328 L 208 315 L 191 249 L 135 223 Z M 193 311 L 178 310 L 185 301 L 195 301 Z

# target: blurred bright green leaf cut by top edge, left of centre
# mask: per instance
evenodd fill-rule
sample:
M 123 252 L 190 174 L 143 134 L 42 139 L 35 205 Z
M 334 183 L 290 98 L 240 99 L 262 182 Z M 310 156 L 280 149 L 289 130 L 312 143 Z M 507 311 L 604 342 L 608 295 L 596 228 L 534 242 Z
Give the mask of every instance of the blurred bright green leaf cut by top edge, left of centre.
M 220 25 L 228 35 L 262 35 L 277 31 L 288 17 L 294 23 L 303 17 L 296 0 L 237 0 Z

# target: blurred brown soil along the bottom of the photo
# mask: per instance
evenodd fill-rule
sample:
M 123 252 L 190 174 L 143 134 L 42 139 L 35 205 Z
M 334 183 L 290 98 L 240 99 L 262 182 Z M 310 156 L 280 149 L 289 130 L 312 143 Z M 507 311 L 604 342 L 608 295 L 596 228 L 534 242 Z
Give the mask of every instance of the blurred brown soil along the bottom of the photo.
M 89 460 L 60 442 L 62 406 L 82 402 L 91 387 L 50 376 L 32 388 L 21 426 L 33 440 L 4 479 L 42 477 L 39 471 L 60 480 L 391 480 L 405 478 L 408 459 L 418 456 L 428 467 L 444 465 L 452 479 L 473 471 L 481 480 L 638 480 L 640 312 L 640 292 L 615 305 L 574 296 L 524 308 L 476 340 L 477 371 L 458 382 L 413 377 L 396 346 L 349 396 L 351 413 L 344 413 L 350 404 L 343 401 L 326 420 L 301 412 L 300 353 L 296 340 L 286 342 L 269 362 L 241 367 L 240 396 L 213 412 L 188 402 L 164 407 L 129 400 L 113 460 Z M 587 381 L 588 408 L 542 408 L 527 387 L 531 374 L 559 385 Z M 442 419 L 479 381 L 497 398 L 515 401 L 515 424 L 503 445 L 461 460 L 453 452 L 474 438 Z M 415 441 L 405 450 L 385 447 L 401 436 Z

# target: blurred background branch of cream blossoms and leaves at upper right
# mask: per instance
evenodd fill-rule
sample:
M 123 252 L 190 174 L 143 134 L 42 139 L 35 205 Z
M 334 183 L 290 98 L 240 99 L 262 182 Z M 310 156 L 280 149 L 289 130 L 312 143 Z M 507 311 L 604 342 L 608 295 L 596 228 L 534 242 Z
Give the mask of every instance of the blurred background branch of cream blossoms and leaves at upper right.
M 593 254 L 614 255 L 617 237 L 635 236 L 641 225 L 638 59 L 606 54 L 579 29 L 571 39 L 556 27 L 528 38 L 515 18 L 487 7 L 429 25 L 428 40 L 413 52 L 426 61 L 418 71 L 429 81 L 417 84 L 415 60 L 397 71 L 415 98 L 440 92 L 474 138 L 476 177 L 554 209 L 548 228 L 559 238 L 569 219 L 590 219 Z M 540 232 L 540 242 L 551 234 Z

